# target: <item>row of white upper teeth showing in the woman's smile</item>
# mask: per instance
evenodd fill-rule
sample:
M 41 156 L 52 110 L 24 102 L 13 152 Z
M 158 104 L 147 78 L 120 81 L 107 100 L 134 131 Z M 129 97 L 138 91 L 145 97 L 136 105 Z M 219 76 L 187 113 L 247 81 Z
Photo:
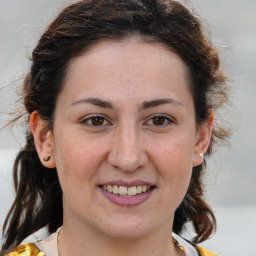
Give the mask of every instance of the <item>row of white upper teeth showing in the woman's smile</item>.
M 142 193 L 145 193 L 153 188 L 155 186 L 132 186 L 132 187 L 126 187 L 126 186 L 118 186 L 118 185 L 104 185 L 101 186 L 105 191 L 108 191 L 109 193 L 113 193 L 115 195 L 119 195 L 121 197 L 131 197 L 136 196 Z

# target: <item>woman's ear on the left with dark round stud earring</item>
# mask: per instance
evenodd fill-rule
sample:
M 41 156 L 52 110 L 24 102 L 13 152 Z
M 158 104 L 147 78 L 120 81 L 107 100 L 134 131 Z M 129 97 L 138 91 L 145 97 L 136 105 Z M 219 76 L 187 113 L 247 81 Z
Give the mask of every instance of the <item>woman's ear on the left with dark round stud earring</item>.
M 56 167 L 54 158 L 53 134 L 48 128 L 49 122 L 43 120 L 37 111 L 30 116 L 30 130 L 34 136 L 34 143 L 41 163 L 47 168 Z M 45 160 L 50 157 L 49 160 Z

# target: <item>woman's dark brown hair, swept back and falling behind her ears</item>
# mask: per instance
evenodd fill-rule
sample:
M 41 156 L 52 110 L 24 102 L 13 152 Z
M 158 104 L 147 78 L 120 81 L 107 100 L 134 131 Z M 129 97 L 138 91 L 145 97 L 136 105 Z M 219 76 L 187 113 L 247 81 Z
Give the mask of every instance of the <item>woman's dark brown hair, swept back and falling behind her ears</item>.
M 210 118 L 227 102 L 226 78 L 216 49 L 205 35 L 201 22 L 175 0 L 90 0 L 65 8 L 49 25 L 33 51 L 31 69 L 24 84 L 27 111 L 26 145 L 14 164 L 15 201 L 5 220 L 2 250 L 19 244 L 24 238 L 47 226 L 50 233 L 62 225 L 62 191 L 56 169 L 44 167 L 37 155 L 28 128 L 30 114 L 38 111 L 54 122 L 56 99 L 62 89 L 72 58 L 103 39 L 124 40 L 133 35 L 142 40 L 160 42 L 177 53 L 190 70 L 190 89 L 194 98 L 196 123 Z M 207 154 L 228 131 L 215 125 Z M 193 168 L 187 194 L 175 212 L 173 231 L 180 234 L 191 222 L 194 242 L 213 234 L 216 221 L 203 199 L 204 163 Z

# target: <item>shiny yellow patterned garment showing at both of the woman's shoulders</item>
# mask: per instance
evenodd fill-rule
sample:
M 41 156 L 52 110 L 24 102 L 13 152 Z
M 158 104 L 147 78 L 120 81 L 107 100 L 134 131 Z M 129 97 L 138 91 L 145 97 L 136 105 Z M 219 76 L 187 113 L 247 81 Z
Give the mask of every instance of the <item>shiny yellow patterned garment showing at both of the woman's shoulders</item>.
M 196 246 L 200 256 L 218 256 L 202 247 Z M 4 256 L 46 256 L 33 243 L 20 245 Z

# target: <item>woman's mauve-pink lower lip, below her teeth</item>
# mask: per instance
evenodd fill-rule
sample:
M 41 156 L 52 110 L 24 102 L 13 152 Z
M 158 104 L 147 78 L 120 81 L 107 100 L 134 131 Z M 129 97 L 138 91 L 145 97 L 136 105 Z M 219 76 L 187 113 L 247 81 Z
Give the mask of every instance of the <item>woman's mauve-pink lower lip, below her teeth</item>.
M 119 196 L 113 193 L 106 191 L 103 188 L 100 188 L 103 195 L 112 203 L 119 205 L 119 206 L 136 206 L 142 204 L 143 202 L 147 201 L 151 196 L 154 188 L 148 190 L 147 192 L 138 194 L 136 196 Z

